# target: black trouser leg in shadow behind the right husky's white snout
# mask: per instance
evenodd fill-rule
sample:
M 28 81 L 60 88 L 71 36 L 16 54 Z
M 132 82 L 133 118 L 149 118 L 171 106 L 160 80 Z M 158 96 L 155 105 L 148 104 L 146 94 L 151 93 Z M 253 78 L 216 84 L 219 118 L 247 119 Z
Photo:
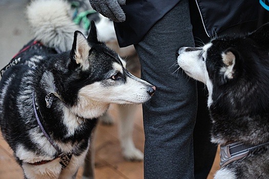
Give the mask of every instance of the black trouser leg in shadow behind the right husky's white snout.
M 193 25 L 193 36 L 195 46 L 201 47 L 210 41 L 205 33 L 201 16 L 196 1 L 189 1 L 191 12 L 191 23 Z M 205 179 L 214 163 L 217 145 L 210 142 L 211 119 L 207 106 L 208 91 L 202 82 L 197 82 L 198 109 L 196 123 L 193 132 L 194 147 L 194 178 Z

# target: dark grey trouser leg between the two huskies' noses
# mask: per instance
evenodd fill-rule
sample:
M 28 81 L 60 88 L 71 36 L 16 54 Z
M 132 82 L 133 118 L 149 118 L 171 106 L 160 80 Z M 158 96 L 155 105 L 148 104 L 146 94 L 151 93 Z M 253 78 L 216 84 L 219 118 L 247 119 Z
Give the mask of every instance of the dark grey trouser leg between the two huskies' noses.
M 156 86 L 143 104 L 144 178 L 194 178 L 196 82 L 175 72 L 180 47 L 194 47 L 188 0 L 180 1 L 135 44 L 141 78 Z M 175 72 L 175 73 L 174 73 Z

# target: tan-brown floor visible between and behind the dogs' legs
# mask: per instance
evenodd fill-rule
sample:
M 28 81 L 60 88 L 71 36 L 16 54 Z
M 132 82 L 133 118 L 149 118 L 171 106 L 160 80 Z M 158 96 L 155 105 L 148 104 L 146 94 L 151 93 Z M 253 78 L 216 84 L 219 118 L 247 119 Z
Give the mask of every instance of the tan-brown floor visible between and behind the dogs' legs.
M 110 114 L 117 119 L 117 111 L 111 107 Z M 135 118 L 134 142 L 143 151 L 144 134 L 141 108 Z M 98 125 L 95 140 L 95 174 L 97 179 L 143 178 L 143 162 L 127 162 L 122 158 L 117 136 L 117 120 L 112 126 Z M 219 154 L 217 153 L 212 171 L 208 179 L 219 169 Z M 81 178 L 81 169 L 77 178 Z M 0 137 L 0 178 L 23 178 L 22 169 L 15 163 L 8 144 Z

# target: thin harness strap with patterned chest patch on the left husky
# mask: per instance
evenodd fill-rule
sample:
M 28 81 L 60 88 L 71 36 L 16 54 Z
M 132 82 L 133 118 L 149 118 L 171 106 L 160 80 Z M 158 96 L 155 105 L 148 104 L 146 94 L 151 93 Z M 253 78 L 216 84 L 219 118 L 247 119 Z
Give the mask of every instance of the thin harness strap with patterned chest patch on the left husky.
M 60 165 L 62 166 L 62 169 L 66 168 L 72 158 L 72 154 L 73 152 L 62 152 L 60 150 L 60 148 L 55 144 L 55 142 L 53 142 L 53 140 L 51 139 L 51 137 L 48 135 L 48 133 L 46 132 L 46 130 L 44 129 L 40 119 L 42 119 L 42 115 L 40 114 L 40 111 L 35 103 L 35 95 L 34 92 L 32 94 L 32 98 L 33 98 L 33 107 L 34 107 L 34 114 L 35 114 L 35 118 L 36 121 L 38 123 L 38 126 L 40 127 L 40 129 L 42 130 L 44 136 L 48 139 L 48 141 L 51 143 L 51 145 L 55 148 L 55 150 L 57 151 L 58 155 L 56 156 L 56 158 L 54 158 L 53 160 L 60 158 Z M 35 163 L 30 163 L 31 165 L 42 165 L 42 164 L 46 164 L 48 162 L 51 162 L 53 160 L 50 161 L 40 161 L 40 162 L 35 162 Z

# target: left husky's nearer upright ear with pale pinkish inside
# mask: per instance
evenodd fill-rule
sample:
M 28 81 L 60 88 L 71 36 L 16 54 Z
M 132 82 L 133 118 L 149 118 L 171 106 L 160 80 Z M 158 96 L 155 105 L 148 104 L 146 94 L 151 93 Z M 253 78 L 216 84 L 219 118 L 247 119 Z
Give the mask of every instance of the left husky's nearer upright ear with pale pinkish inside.
M 82 66 L 82 70 L 88 69 L 90 50 L 91 47 L 86 37 L 81 32 L 75 31 L 73 46 L 70 52 L 71 60 L 75 63 L 74 65 Z

